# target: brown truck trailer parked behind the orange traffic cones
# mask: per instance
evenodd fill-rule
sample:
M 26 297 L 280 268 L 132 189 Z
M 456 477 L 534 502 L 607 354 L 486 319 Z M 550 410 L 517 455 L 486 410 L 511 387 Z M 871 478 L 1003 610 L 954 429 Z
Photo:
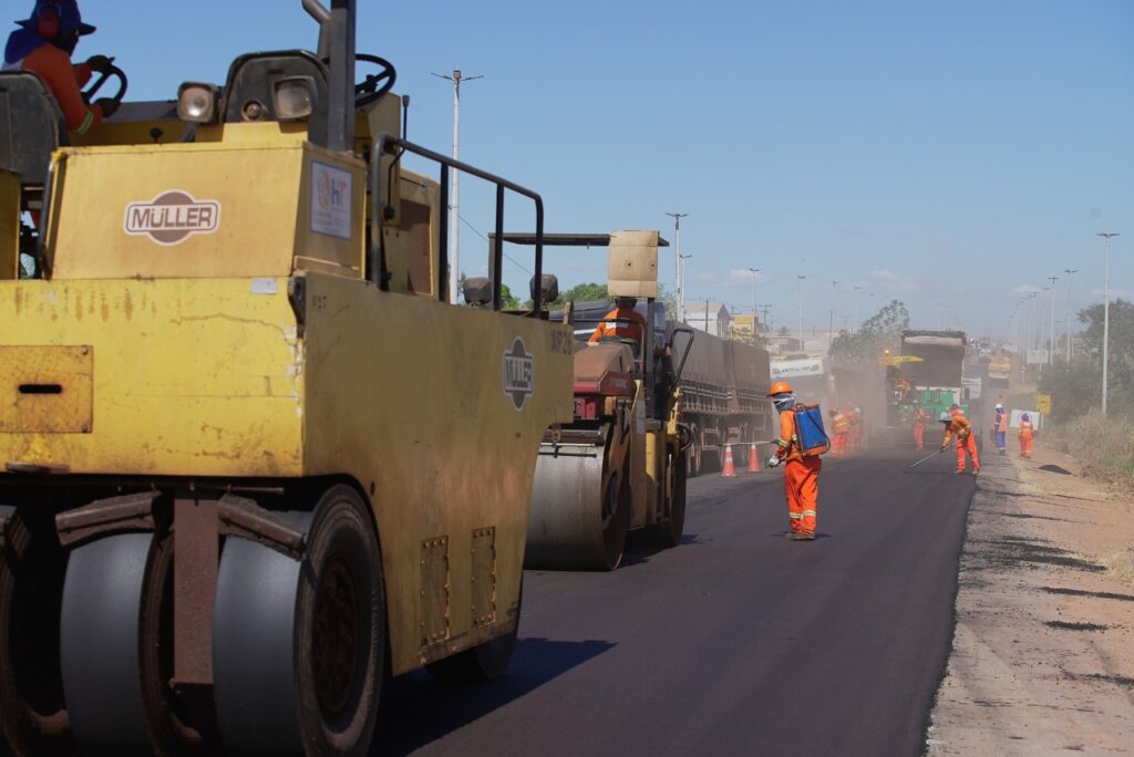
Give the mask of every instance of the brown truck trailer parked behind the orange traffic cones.
M 771 433 L 771 388 L 768 351 L 697 331 L 682 376 L 680 422 L 693 439 L 689 475 L 720 468 L 725 445 L 739 444 L 738 457 L 752 442 Z

